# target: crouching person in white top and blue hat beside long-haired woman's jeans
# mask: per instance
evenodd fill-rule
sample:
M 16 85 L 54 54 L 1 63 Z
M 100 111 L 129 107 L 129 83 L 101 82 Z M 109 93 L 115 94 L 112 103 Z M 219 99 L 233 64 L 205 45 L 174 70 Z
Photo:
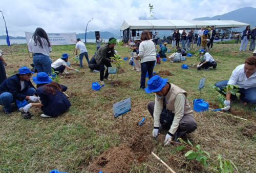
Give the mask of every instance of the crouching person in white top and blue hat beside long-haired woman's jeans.
M 61 58 L 57 59 L 55 62 L 52 63 L 52 69 L 58 74 L 58 76 L 61 76 L 66 68 L 79 72 L 79 70 L 73 69 L 67 65 L 68 57 L 69 55 L 67 53 L 64 53 L 62 54 Z

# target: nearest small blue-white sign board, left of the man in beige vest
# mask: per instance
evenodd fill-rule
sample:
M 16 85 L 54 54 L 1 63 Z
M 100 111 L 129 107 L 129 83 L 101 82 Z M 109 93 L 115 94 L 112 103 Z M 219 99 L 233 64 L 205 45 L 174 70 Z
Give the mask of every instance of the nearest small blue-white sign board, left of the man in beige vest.
M 114 118 L 131 111 L 131 98 L 126 98 L 118 103 L 113 104 Z

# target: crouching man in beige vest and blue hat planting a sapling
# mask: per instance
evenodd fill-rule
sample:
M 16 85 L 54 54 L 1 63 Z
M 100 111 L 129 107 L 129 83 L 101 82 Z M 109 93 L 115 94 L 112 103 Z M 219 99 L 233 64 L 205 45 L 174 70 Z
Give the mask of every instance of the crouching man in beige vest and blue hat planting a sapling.
M 146 93 L 155 93 L 155 101 L 147 103 L 147 110 L 154 119 L 153 137 L 158 136 L 161 127 L 168 129 L 164 145 L 179 142 L 178 138 L 197 128 L 187 92 L 167 80 L 155 75 L 147 81 L 147 88 L 144 89 Z

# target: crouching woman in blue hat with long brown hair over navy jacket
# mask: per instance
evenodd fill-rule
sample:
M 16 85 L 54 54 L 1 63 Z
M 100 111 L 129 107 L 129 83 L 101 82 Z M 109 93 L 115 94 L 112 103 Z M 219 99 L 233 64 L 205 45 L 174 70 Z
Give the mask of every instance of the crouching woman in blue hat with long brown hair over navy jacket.
M 68 88 L 65 85 L 52 81 L 45 73 L 39 72 L 32 77 L 37 84 L 37 93 L 40 98 L 40 103 L 29 103 L 23 107 L 23 112 L 28 112 L 32 106 L 41 106 L 41 117 L 56 117 L 60 113 L 65 112 L 71 106 L 68 98 L 62 93 Z

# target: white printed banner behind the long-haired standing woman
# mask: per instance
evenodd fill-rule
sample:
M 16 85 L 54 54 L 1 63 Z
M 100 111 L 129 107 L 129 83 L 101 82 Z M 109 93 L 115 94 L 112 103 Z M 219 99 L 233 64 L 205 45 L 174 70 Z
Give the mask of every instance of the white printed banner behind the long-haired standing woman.
M 30 38 L 32 38 L 32 32 L 25 32 L 27 45 Z M 74 45 L 76 44 L 76 33 L 47 33 L 51 45 Z

